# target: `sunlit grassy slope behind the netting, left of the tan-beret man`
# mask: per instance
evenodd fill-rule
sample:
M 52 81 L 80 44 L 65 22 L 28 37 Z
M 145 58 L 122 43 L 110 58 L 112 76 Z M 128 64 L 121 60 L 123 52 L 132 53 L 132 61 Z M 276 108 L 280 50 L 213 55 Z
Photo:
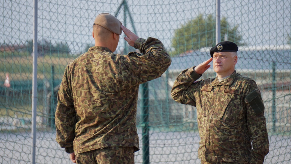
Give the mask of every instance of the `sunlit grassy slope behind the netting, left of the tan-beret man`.
M 54 66 L 54 78 L 61 79 L 65 66 L 74 57 L 58 57 L 56 54 L 38 57 L 38 79 L 51 78 L 52 66 Z M 11 81 L 32 80 L 33 57 L 28 54 L 15 55 L 15 53 L 0 53 L 0 81 L 5 80 L 5 74 L 9 73 Z

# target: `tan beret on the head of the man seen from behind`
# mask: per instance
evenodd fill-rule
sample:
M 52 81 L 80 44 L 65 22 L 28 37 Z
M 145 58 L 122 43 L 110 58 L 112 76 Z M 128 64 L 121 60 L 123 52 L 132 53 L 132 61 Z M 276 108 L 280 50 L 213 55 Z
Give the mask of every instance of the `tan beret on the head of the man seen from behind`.
M 121 25 L 122 23 L 113 15 L 109 13 L 101 13 L 97 15 L 97 17 L 94 20 L 94 24 L 98 24 L 105 29 L 116 33 L 118 35 L 121 34 Z

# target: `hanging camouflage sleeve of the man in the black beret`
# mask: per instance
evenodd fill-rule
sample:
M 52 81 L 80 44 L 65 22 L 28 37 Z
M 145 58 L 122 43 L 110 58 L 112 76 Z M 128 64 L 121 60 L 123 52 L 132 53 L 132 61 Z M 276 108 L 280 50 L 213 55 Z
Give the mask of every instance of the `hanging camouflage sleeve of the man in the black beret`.
M 247 91 L 246 96 L 250 95 L 252 91 L 256 91 L 259 93 L 259 100 L 256 100 L 255 103 L 258 104 L 258 101 L 263 102 L 255 81 L 250 80 L 249 82 L 251 87 Z M 247 124 L 249 128 L 249 134 L 251 134 L 251 139 L 253 140 L 253 150 L 251 152 L 249 163 L 262 164 L 264 162 L 265 156 L 269 153 L 269 139 L 266 128 L 266 119 L 264 116 L 264 107 L 261 107 L 262 109 L 258 109 L 260 107 L 251 105 L 251 103 L 246 100 L 246 98 L 245 102 L 247 103 Z

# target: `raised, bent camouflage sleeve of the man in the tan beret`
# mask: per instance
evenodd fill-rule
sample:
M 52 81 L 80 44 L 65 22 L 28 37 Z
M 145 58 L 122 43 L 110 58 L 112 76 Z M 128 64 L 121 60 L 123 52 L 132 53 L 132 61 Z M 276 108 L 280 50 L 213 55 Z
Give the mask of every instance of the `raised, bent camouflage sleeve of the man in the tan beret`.
M 135 41 L 134 48 L 139 49 L 143 55 L 131 52 L 123 56 L 123 63 L 140 83 L 160 77 L 171 65 L 170 55 L 163 43 L 156 38 L 139 38 Z

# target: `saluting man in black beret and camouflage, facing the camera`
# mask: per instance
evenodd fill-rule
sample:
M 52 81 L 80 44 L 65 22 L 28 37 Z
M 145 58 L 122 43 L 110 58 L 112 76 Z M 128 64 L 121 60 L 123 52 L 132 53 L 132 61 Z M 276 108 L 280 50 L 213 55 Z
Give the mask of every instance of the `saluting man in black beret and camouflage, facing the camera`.
M 171 91 L 175 101 L 197 109 L 203 164 L 261 164 L 269 152 L 264 103 L 256 82 L 236 73 L 237 50 L 233 42 L 218 43 L 210 59 L 180 73 Z M 196 81 L 211 61 L 217 77 Z

